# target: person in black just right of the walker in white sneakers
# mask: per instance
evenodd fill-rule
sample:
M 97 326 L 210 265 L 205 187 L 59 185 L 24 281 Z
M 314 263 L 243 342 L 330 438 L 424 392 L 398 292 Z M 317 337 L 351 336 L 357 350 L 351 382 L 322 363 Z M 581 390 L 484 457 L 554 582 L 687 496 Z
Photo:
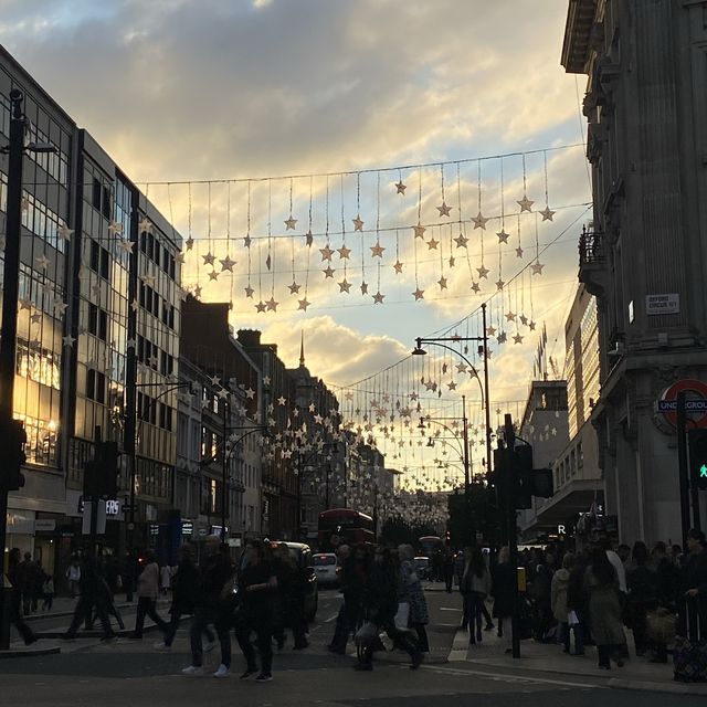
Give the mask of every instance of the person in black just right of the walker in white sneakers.
M 241 679 L 257 673 L 258 683 L 273 679 L 273 602 L 277 591 L 277 577 L 270 553 L 260 540 L 249 540 L 244 552 L 245 567 L 239 577 L 241 605 L 239 608 L 235 635 L 245 657 L 245 672 Z M 261 656 L 260 673 L 255 663 L 255 650 L 251 634 Z

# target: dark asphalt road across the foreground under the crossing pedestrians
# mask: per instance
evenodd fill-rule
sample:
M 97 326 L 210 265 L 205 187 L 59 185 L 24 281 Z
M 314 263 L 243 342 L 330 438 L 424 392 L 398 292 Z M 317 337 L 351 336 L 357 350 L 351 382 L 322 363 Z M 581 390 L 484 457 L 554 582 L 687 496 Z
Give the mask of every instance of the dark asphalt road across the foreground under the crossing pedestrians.
M 0 661 L 0 705 L 51 707 L 137 707 L 169 705 L 220 707 L 305 706 L 321 707 L 664 707 L 675 696 L 608 689 L 605 679 L 562 676 L 544 672 L 490 668 L 457 661 L 447 662 L 461 616 L 457 594 L 428 593 L 432 652 L 418 672 L 407 656 L 386 653 L 372 673 L 358 673 L 351 655 L 331 655 L 326 643 L 334 631 L 340 598 L 336 591 L 320 594 L 317 622 L 310 629 L 310 647 L 292 651 L 292 643 L 275 653 L 274 679 L 267 684 L 241 682 L 243 658 L 233 642 L 233 673 L 217 680 L 186 678 L 179 673 L 190 663 L 186 625 L 170 653 L 154 651 L 157 634 L 144 641 L 118 640 L 103 644 L 81 639 L 63 644 L 62 654 Z M 51 623 L 51 620 L 46 620 Z M 66 620 L 61 620 L 61 625 Z M 131 623 L 128 623 L 131 625 Z M 51 643 L 51 642 L 48 642 Z M 207 668 L 218 664 L 218 648 L 207 656 Z M 704 697 L 680 697 L 680 705 L 697 707 Z

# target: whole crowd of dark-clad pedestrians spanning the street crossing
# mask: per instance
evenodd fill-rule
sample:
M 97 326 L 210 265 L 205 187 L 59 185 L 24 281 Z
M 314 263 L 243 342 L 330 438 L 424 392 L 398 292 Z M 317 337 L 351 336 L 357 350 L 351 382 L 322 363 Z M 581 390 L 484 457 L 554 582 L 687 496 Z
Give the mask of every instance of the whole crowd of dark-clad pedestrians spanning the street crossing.
M 373 668 L 376 652 L 383 650 L 383 633 L 409 654 L 412 669 L 430 650 L 428 606 L 414 555 L 410 545 L 397 549 L 341 545 L 337 549 L 342 602 L 327 647 L 346 654 L 354 639 L 359 671 Z M 478 547 L 456 553 L 447 549 L 439 558 L 439 570 L 430 579 L 444 581 L 447 591 L 457 585 L 469 644 L 496 630 L 510 652 L 511 615 L 519 610 L 521 639 L 558 643 L 566 653 L 578 656 L 593 644 L 599 667 L 609 669 L 612 662 L 622 666 L 629 657 L 625 629 L 636 656 L 666 663 L 675 634 L 697 635 L 698 626 L 703 632 L 707 626 L 707 546 L 699 530 L 688 534 L 685 552 L 664 542 L 651 549 L 642 541 L 613 547 L 602 538 L 578 552 L 550 546 L 525 549 L 517 559 L 527 580 L 519 598 L 514 591 L 517 569 L 508 548 L 500 548 L 493 560 Z M 51 608 L 52 578 L 29 553 L 21 559 L 17 548 L 10 551 L 8 578 L 14 590 L 12 621 L 25 643 L 33 643 L 36 637 L 22 616 L 36 611 L 40 599 Z M 149 551 L 139 562 L 127 556 L 123 563 L 84 555 L 72 559 L 66 580 L 77 597 L 64 635 L 67 640 L 77 635 L 82 623 L 92 627 L 96 620 L 104 640 L 115 637 L 112 621 L 125 626 L 114 601 L 119 590 L 128 600 L 137 597 L 130 639 L 143 639 L 149 616 L 162 634 L 157 650 L 171 648 L 182 616 L 190 615 L 191 663 L 182 671 L 187 676 L 203 675 L 204 652 L 215 647 L 217 639 L 221 659 L 213 675 L 229 675 L 232 631 L 243 653 L 243 679 L 272 679 L 273 645 L 283 648 L 287 630 L 294 650 L 308 646 L 306 568 L 285 544 L 249 540 L 234 562 L 229 549 L 210 537 L 200 562 L 187 545 L 176 568 L 160 568 Z M 166 620 L 158 613 L 157 601 L 168 592 L 171 604 Z

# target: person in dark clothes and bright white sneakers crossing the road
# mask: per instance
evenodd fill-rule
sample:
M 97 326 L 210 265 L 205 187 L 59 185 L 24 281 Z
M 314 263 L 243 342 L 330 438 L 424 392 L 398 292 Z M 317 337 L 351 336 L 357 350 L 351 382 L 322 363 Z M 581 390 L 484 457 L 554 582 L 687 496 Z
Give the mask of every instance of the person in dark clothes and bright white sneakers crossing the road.
M 222 551 L 225 550 L 225 551 Z M 189 627 L 191 665 L 182 669 L 187 677 L 203 675 L 203 644 L 201 636 L 207 626 L 213 624 L 221 645 L 221 663 L 213 677 L 228 677 L 231 672 L 231 623 L 230 605 L 224 603 L 223 591 L 233 576 L 233 566 L 228 548 L 222 548 L 217 536 L 209 536 L 204 544 L 201 567 L 201 588 L 193 597 L 194 615 Z M 167 632 L 166 632 L 167 634 Z M 167 642 L 165 642 L 167 643 Z

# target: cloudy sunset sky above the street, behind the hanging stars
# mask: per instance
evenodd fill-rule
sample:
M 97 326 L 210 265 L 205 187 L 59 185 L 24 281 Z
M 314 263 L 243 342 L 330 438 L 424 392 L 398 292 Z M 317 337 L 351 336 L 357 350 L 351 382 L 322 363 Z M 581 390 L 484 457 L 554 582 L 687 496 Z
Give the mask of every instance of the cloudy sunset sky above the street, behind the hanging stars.
M 204 302 L 232 300 L 234 328 L 260 328 L 287 366 L 297 365 L 304 334 L 309 370 L 341 394 L 363 379 L 380 390 L 392 379 L 377 373 L 403 359 L 415 337 L 477 335 L 482 302 L 497 329 L 504 313 L 530 317 L 531 305 L 535 331 L 516 320 L 506 344 L 492 338 L 494 411 L 517 416 L 542 325 L 561 372 L 577 241 L 591 218 L 578 106 L 584 80 L 560 66 L 567 4 L 0 0 L 0 42 L 193 238 L 184 284 L 199 285 Z M 197 183 L 209 180 L 224 181 Z M 443 180 L 449 218 L 437 210 Z M 535 205 L 519 218 L 524 193 Z M 537 214 L 546 205 L 552 221 Z M 490 219 L 485 230 L 472 221 L 479 210 Z M 419 214 L 422 239 L 412 230 Z M 289 215 L 294 229 L 284 223 Z M 507 244 L 496 236 L 502 229 Z M 460 234 L 465 247 L 452 241 Z M 377 243 L 380 257 L 370 250 Z M 327 244 L 330 263 L 320 254 Z M 342 246 L 348 258 L 337 253 Z M 220 260 L 235 260 L 234 274 L 210 281 L 209 253 L 217 273 Z M 519 274 L 534 262 L 541 273 Z M 330 278 L 321 272 L 328 264 Z M 249 275 L 254 299 L 244 294 Z M 497 293 L 497 279 L 510 284 Z M 291 295 L 291 283 L 299 292 Z M 418 300 L 415 291 L 424 292 Z M 303 296 L 312 303 L 305 309 Z M 277 308 L 257 313 L 271 297 Z M 523 342 L 514 344 L 517 334 Z M 419 373 L 410 366 L 389 374 L 395 384 Z M 441 409 L 458 414 L 460 391 L 478 402 L 476 381 L 463 380 Z

